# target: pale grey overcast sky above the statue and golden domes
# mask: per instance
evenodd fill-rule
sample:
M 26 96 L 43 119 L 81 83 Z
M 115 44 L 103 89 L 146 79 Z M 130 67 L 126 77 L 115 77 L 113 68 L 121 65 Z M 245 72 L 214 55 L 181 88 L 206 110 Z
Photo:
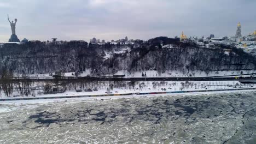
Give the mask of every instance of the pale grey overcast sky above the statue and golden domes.
M 147 40 L 210 34 L 242 35 L 256 30 L 255 0 L 0 0 L 0 42 L 8 41 L 7 20 L 18 19 L 16 34 L 30 40 Z

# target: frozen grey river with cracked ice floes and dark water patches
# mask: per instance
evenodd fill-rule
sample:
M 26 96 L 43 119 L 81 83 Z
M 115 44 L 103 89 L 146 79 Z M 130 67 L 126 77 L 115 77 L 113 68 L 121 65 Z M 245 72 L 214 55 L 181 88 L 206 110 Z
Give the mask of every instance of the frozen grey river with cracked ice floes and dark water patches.
M 256 92 L 0 104 L 0 143 L 255 143 Z

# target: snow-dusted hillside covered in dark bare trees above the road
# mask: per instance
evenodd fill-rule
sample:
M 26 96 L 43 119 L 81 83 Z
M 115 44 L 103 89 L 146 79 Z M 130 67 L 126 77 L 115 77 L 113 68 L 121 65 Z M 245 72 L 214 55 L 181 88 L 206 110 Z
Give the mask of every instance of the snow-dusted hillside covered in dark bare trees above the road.
M 162 45 L 171 44 L 171 48 Z M 202 48 L 194 43 L 179 43 L 177 39 L 160 37 L 134 45 L 88 44 L 85 41 L 46 43 L 28 41 L 25 44 L 4 44 L 0 51 L 1 69 L 18 74 L 45 74 L 56 71 L 74 72 L 90 69 L 91 75 L 115 74 L 119 70 L 157 70 L 165 73 L 189 71 L 255 69 L 256 59 L 242 50 L 221 46 Z M 226 49 L 226 47 L 225 47 Z

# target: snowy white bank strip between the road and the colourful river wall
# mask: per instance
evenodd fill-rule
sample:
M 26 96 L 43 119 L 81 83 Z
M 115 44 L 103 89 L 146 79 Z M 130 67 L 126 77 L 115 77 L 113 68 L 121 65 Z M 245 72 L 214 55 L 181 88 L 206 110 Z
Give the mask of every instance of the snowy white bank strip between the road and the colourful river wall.
M 127 94 L 127 93 L 160 93 L 177 91 L 203 91 L 203 90 L 225 90 L 234 88 L 253 88 L 255 84 L 242 84 L 238 81 L 194 81 L 194 82 L 126 82 L 126 83 L 90 83 L 80 92 L 69 88 L 63 93 L 46 94 L 42 83 L 34 83 L 30 94 L 20 94 L 13 90 L 10 97 L 1 93 L 0 99 L 11 98 L 40 98 L 40 97 L 69 97 L 79 95 L 105 95 L 105 94 Z M 19 90 L 19 89 L 18 89 Z

